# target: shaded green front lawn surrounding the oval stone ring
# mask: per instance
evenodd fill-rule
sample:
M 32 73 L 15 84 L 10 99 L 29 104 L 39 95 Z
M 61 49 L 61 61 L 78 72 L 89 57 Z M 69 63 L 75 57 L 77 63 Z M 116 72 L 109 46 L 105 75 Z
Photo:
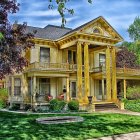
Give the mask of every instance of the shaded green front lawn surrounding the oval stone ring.
M 140 117 L 121 114 L 80 114 L 84 122 L 42 125 L 35 119 L 56 115 L 0 112 L 0 140 L 85 140 L 140 131 Z

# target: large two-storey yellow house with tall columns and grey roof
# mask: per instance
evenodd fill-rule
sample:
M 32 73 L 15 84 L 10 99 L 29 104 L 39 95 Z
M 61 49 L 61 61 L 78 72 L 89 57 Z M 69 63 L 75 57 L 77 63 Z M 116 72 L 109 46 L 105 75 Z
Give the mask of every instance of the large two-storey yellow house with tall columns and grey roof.
M 126 80 L 139 79 L 140 72 L 116 68 L 116 43 L 123 38 L 103 18 L 98 17 L 74 30 L 48 25 L 36 30 L 35 47 L 25 56 L 30 64 L 21 74 L 7 77 L 12 105 L 47 104 L 47 96 L 66 101 L 77 99 L 82 108 L 93 104 L 114 103 L 120 107 L 117 86 L 122 81 L 124 98 Z

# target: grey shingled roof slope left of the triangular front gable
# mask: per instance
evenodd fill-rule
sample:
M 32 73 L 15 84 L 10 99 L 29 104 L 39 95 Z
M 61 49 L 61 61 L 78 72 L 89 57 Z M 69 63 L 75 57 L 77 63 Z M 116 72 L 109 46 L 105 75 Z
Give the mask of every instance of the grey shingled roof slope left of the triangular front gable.
M 36 31 L 35 37 L 42 39 L 56 40 L 70 32 L 70 28 L 61 28 L 60 26 L 47 25 L 44 28 L 27 26 L 26 32 L 33 33 Z

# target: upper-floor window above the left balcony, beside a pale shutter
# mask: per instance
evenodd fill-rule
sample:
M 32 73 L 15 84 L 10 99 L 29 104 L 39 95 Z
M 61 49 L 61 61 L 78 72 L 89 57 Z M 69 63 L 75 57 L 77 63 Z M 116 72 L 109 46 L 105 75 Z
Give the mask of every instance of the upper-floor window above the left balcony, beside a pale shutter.
M 50 48 L 40 48 L 40 62 L 50 62 Z

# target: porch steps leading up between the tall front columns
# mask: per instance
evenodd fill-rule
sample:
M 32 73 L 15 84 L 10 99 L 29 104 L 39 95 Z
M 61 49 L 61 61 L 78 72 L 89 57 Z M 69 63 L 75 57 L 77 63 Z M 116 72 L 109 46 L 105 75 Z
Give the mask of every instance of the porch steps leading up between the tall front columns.
M 98 110 L 112 110 L 112 109 L 118 109 L 118 106 L 115 103 L 95 104 L 95 111 L 98 111 Z

